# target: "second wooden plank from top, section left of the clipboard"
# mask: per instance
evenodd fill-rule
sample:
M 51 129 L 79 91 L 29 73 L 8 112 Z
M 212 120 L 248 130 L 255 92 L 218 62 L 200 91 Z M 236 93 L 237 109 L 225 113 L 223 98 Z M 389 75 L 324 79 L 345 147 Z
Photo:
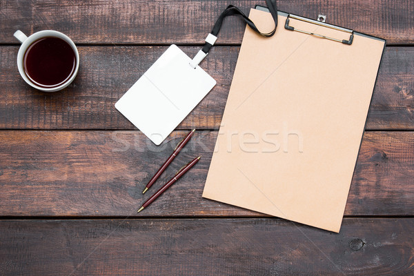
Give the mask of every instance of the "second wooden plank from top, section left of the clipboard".
M 166 50 L 166 47 L 79 47 L 79 74 L 61 92 L 40 92 L 19 75 L 18 48 L 0 46 L 0 128 L 134 129 L 115 103 Z M 195 55 L 199 47 L 184 47 Z M 211 50 L 204 68 L 217 86 L 179 128 L 218 128 L 239 48 Z

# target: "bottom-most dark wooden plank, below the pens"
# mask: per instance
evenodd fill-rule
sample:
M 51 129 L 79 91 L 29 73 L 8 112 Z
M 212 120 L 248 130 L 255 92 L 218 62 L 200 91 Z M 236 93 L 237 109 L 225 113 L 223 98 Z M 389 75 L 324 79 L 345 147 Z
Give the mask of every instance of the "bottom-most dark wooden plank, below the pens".
M 344 219 L 339 234 L 282 219 L 0 223 L 1 275 L 413 275 L 414 219 Z

